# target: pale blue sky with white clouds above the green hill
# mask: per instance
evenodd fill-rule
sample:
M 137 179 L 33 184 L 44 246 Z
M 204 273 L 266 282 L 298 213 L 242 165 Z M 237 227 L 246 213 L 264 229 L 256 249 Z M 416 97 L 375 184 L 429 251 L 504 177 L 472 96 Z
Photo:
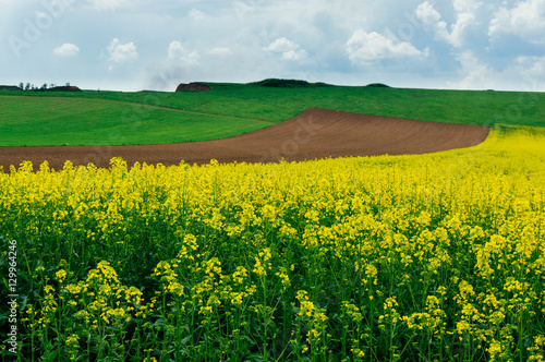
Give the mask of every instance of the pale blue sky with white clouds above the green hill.
M 0 84 L 545 90 L 545 0 L 0 0 Z

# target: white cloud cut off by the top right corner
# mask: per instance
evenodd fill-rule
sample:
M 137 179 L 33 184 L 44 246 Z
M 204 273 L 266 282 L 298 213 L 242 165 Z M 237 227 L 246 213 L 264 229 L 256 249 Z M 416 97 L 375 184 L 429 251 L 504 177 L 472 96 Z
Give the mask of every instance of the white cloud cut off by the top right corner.
M 491 37 L 501 33 L 514 34 L 535 43 L 545 43 L 545 0 L 519 1 L 512 9 L 505 7 L 494 14 L 488 27 Z

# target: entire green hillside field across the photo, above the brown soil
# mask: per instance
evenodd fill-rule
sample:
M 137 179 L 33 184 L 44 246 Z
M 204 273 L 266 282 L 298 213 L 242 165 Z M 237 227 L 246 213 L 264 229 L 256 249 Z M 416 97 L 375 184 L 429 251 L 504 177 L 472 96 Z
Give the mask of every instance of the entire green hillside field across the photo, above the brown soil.
M 213 92 L 3 90 L 0 146 L 215 140 L 286 121 L 311 107 L 435 122 L 545 126 L 543 93 L 208 84 Z

